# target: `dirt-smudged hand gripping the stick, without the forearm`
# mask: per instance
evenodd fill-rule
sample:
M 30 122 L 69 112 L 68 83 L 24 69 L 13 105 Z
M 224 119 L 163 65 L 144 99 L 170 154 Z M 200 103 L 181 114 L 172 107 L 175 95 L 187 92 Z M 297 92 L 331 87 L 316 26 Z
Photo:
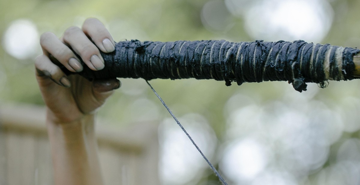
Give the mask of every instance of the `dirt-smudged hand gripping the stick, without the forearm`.
M 72 72 L 82 71 L 77 53 L 90 69 L 104 68 L 99 49 L 105 53 L 113 52 L 115 42 L 98 19 L 86 19 L 81 29 L 69 27 L 60 39 L 45 32 L 41 35 L 40 45 L 43 54 L 35 60 L 36 79 L 51 122 L 71 123 L 92 115 L 113 89 L 120 87 L 117 79 L 90 82 L 77 74 L 67 76 L 57 66 L 61 64 Z

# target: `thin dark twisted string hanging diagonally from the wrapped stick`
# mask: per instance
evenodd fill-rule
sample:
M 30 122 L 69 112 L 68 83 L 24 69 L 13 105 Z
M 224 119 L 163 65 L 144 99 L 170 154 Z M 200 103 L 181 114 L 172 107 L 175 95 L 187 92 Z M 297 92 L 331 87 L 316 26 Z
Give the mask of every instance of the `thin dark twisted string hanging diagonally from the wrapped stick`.
M 181 129 L 183 129 L 184 133 L 186 134 L 186 136 L 188 136 L 188 138 L 190 139 L 190 141 L 194 144 L 194 146 L 196 147 L 196 149 L 198 149 L 198 151 L 200 152 L 200 154 L 202 155 L 202 157 L 206 160 L 206 162 L 209 164 L 209 166 L 211 167 L 212 171 L 215 173 L 215 175 L 217 177 L 219 177 L 219 180 L 221 181 L 221 183 L 223 185 L 228 185 L 226 183 L 226 181 L 222 178 L 222 176 L 220 175 L 219 172 L 217 172 L 217 170 L 215 169 L 215 167 L 211 164 L 211 162 L 205 157 L 205 155 L 202 153 L 202 151 L 199 149 L 198 145 L 195 144 L 194 140 L 190 137 L 190 135 L 188 134 L 188 132 L 186 132 L 185 128 L 183 127 L 183 125 L 181 125 L 181 123 L 179 122 L 179 120 L 176 119 L 175 115 L 172 114 L 172 111 L 169 109 L 169 107 L 167 107 L 167 105 L 165 104 L 165 102 L 161 99 L 161 97 L 158 95 L 158 93 L 156 93 L 155 89 L 150 85 L 150 83 L 148 82 L 148 80 L 146 80 L 146 83 L 150 86 L 151 90 L 155 93 L 155 95 L 159 98 L 159 100 L 161 101 L 162 105 L 165 106 L 165 108 L 167 109 L 167 111 L 170 113 L 170 115 L 172 116 L 172 118 L 174 118 L 174 120 L 176 121 L 176 123 L 180 126 Z

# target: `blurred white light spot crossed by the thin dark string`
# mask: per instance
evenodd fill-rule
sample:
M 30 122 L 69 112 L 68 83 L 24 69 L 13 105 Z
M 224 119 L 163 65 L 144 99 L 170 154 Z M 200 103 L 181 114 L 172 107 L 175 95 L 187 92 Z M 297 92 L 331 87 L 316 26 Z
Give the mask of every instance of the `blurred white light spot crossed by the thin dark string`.
M 204 155 L 211 160 L 217 139 L 207 120 L 199 114 L 188 114 L 180 117 L 179 121 Z M 159 176 L 162 183 L 196 184 L 208 164 L 174 119 L 167 118 L 159 125 L 159 142 Z

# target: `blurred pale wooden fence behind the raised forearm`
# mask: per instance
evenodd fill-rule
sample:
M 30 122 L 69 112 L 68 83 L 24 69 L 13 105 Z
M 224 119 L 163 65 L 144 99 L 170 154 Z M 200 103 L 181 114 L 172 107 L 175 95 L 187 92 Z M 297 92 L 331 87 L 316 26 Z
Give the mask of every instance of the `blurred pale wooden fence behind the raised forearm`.
M 156 124 L 126 131 L 96 125 L 106 185 L 158 185 Z M 0 185 L 51 185 L 53 169 L 45 109 L 0 106 Z

